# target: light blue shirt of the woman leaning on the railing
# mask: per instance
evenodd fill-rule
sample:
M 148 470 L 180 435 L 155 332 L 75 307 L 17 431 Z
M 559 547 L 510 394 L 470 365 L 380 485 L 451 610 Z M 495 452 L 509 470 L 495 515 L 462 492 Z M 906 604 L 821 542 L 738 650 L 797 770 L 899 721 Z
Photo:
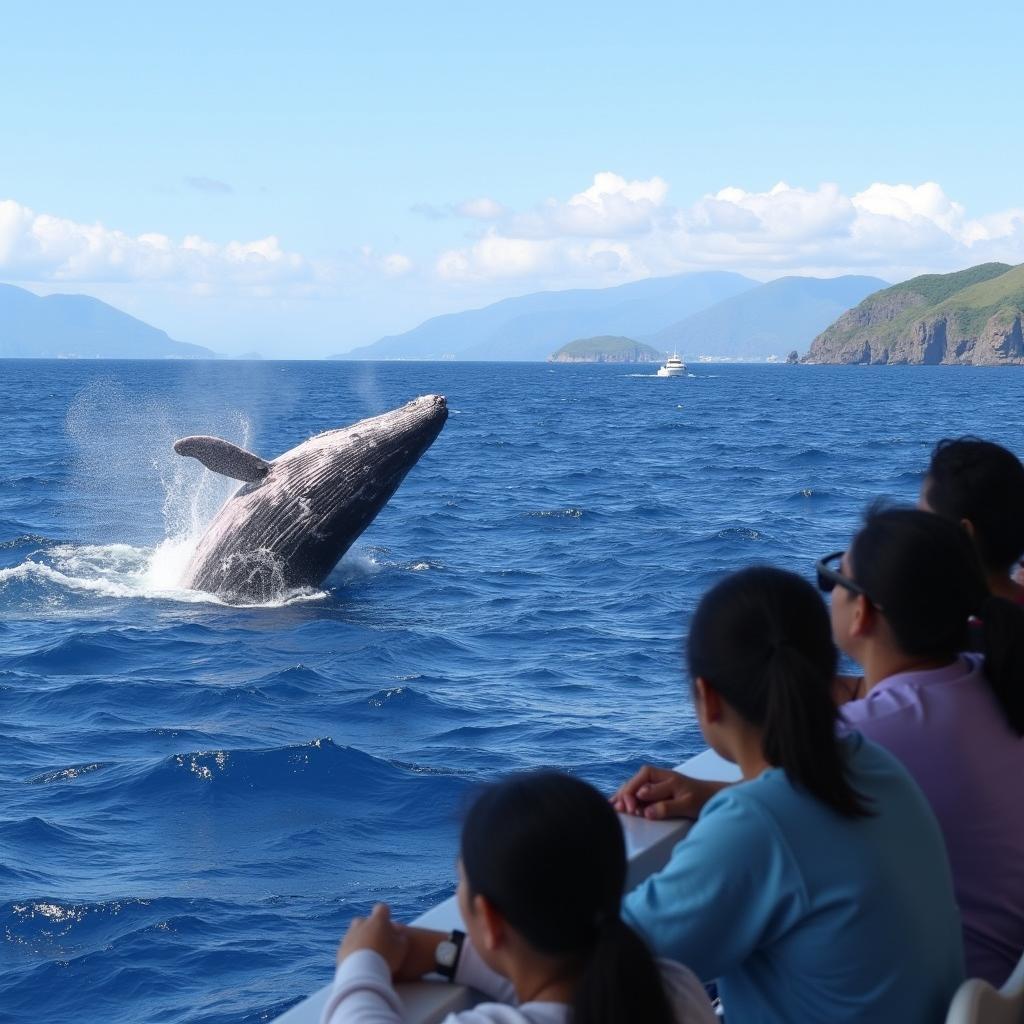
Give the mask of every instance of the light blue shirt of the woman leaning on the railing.
M 964 978 L 938 824 L 902 766 L 842 740 L 873 814 L 846 818 L 778 768 L 708 802 L 624 916 L 653 950 L 717 979 L 741 1024 L 933 1024 Z

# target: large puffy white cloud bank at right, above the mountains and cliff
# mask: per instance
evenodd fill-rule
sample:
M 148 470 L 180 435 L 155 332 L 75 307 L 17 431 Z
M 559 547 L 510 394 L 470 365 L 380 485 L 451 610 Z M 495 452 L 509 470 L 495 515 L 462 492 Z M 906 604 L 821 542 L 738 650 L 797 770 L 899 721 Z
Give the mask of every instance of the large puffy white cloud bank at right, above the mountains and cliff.
M 846 195 L 830 182 L 780 181 L 767 191 L 725 187 L 684 207 L 669 205 L 668 191 L 658 177 L 602 172 L 564 202 L 507 212 L 481 238 L 441 253 L 436 272 L 553 288 L 702 267 L 901 280 L 987 260 L 1024 262 L 1024 210 L 971 218 L 936 182 L 874 182 Z

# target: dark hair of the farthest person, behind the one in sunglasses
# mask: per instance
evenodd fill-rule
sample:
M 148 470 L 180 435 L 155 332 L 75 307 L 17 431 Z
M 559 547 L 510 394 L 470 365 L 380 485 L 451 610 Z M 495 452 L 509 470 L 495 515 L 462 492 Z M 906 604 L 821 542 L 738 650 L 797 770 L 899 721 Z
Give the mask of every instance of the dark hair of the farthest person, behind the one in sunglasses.
M 1024 554 L 1024 466 L 1005 447 L 977 437 L 939 441 L 925 500 L 945 519 L 970 520 L 988 571 L 1006 571 Z

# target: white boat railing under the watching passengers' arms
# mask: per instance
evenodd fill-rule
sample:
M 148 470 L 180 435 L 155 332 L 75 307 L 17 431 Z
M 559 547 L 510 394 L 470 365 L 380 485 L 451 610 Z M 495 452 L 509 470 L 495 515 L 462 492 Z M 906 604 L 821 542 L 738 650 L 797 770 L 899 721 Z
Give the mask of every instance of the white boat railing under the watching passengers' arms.
M 723 761 L 713 751 L 705 751 L 679 766 L 679 771 L 696 778 L 733 781 L 739 777 L 735 765 Z M 645 818 L 621 816 L 626 834 L 626 851 L 629 857 L 628 888 L 639 885 L 667 863 L 675 845 L 689 831 L 690 821 L 648 821 Z M 459 908 L 454 896 L 420 914 L 414 925 L 449 932 L 462 926 Z M 340 938 L 340 936 L 339 936 Z M 332 965 L 324 965 L 324 974 L 332 973 Z M 404 1008 L 407 1024 L 436 1024 L 451 1013 L 472 1006 L 474 996 L 470 989 L 444 981 L 420 981 L 397 985 Z M 321 1011 L 327 1001 L 330 984 L 296 1004 L 276 1018 L 274 1024 L 318 1024 Z

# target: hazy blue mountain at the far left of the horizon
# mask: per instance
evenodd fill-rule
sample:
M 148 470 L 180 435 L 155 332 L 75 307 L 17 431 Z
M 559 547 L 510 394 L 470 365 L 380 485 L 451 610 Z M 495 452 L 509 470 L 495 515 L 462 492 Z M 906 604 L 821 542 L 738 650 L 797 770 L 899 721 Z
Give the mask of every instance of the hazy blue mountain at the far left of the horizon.
M 87 295 L 38 296 L 0 285 L 0 357 L 209 359 L 215 353 L 169 338 Z

